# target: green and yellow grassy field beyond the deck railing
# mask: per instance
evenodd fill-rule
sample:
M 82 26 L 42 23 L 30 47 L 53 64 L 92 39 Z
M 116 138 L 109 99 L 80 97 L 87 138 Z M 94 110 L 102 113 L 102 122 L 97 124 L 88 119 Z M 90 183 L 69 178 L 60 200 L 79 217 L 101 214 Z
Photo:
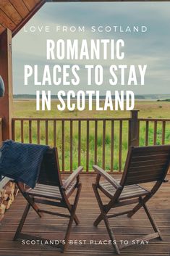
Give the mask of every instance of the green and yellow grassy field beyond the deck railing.
M 51 111 L 35 110 L 35 101 L 14 101 L 14 117 L 129 117 L 130 113 L 126 111 L 73 111 L 59 112 L 56 109 L 57 102 L 52 102 Z M 136 102 L 135 109 L 140 110 L 139 117 L 149 118 L 170 118 L 170 102 Z M 98 165 L 102 165 L 102 133 L 103 123 L 98 122 Z M 122 138 L 122 168 L 127 154 L 128 123 L 123 122 Z M 28 122 L 24 123 L 24 138 L 28 142 Z M 82 139 L 81 139 L 81 165 L 86 166 L 86 123 L 82 122 Z M 92 169 L 94 163 L 94 131 L 95 124 L 90 122 L 90 163 Z M 37 124 L 33 122 L 33 143 L 37 142 Z M 157 127 L 157 144 L 161 144 L 162 124 L 158 122 Z M 48 144 L 53 146 L 54 141 L 53 123 L 48 123 Z M 20 141 L 20 123 L 16 123 L 16 140 Z M 166 124 L 165 134 L 166 144 L 170 142 L 170 123 Z M 45 144 L 45 123 L 41 122 L 41 144 Z M 149 126 L 149 144 L 153 144 L 153 122 Z M 56 124 L 56 145 L 59 149 L 59 160 L 61 162 L 61 122 Z M 140 145 L 145 145 L 145 123 L 140 123 Z M 73 168 L 77 167 L 77 148 L 78 148 L 78 124 L 73 123 Z M 65 123 L 65 170 L 69 170 L 69 122 Z M 106 170 L 110 170 L 111 160 L 111 122 L 106 122 Z M 114 127 L 114 170 L 119 168 L 119 122 L 115 122 Z

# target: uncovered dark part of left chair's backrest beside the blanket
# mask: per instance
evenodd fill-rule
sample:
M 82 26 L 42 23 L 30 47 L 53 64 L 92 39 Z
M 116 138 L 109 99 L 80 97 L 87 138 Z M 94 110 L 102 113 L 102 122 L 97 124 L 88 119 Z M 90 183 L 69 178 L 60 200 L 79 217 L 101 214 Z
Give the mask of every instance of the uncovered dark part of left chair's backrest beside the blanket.
M 62 185 L 56 148 L 48 149 L 44 155 L 37 183 L 50 186 Z

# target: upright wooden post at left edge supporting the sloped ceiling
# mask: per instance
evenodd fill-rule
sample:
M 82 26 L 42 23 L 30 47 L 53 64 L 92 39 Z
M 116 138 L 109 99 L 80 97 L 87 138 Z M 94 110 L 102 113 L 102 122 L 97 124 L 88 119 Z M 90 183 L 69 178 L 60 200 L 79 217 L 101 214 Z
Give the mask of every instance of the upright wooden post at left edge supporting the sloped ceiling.
M 0 98 L 2 139 L 12 138 L 12 31 L 4 30 L 0 36 L 0 74 L 4 80 L 5 95 Z

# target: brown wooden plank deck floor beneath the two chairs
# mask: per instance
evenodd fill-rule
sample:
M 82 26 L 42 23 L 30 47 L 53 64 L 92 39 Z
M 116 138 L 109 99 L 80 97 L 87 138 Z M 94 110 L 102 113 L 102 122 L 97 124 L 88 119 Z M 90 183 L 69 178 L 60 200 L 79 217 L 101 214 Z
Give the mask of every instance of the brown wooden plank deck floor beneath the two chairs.
M 170 177 L 169 177 L 170 179 Z M 93 175 L 81 176 L 82 193 L 80 203 L 77 208 L 77 216 L 80 218 L 80 225 L 73 226 L 70 239 L 86 240 L 86 244 L 69 245 L 64 255 L 115 255 L 111 245 L 90 244 L 89 241 L 109 240 L 103 222 L 98 228 L 93 227 L 93 221 L 99 213 L 98 205 L 95 201 L 91 183 L 94 181 Z M 151 240 L 148 245 L 135 245 L 122 249 L 122 255 L 170 255 L 170 182 L 163 183 L 158 193 L 148 203 L 150 211 L 153 213 L 158 226 L 163 235 L 163 241 Z M 21 241 L 12 241 L 14 231 L 25 208 L 25 199 L 19 194 L 9 211 L 7 211 L 0 224 L 0 255 L 41 255 L 57 256 L 61 255 L 56 247 L 46 245 L 22 245 Z M 125 207 L 124 207 L 125 208 Z M 67 221 L 64 218 L 56 218 L 52 215 L 44 215 L 38 218 L 33 210 L 27 217 L 23 231 L 35 236 L 42 236 L 45 239 L 64 239 L 64 231 L 67 228 Z M 128 240 L 139 237 L 143 234 L 152 233 L 150 223 L 145 212 L 140 210 L 132 218 L 126 215 L 110 219 L 116 240 Z

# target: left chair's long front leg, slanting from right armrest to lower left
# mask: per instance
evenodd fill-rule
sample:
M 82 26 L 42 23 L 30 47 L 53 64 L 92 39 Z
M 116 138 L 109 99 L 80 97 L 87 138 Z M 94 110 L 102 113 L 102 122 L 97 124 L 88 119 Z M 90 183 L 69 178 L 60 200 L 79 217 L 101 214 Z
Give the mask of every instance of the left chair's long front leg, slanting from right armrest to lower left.
M 69 218 L 69 224 L 68 224 L 66 235 L 65 235 L 65 238 L 64 238 L 65 244 L 63 245 L 62 252 L 64 252 L 65 249 L 67 248 L 67 244 L 68 244 L 68 240 L 69 240 L 69 235 L 70 235 L 70 231 L 71 231 L 71 228 L 72 228 L 72 223 L 73 223 L 73 220 L 75 220 L 75 211 L 77 209 L 77 204 L 78 204 L 78 201 L 79 201 L 81 189 L 82 189 L 82 184 L 80 183 L 77 186 L 77 194 L 75 196 L 75 202 L 72 205 L 71 216 Z

